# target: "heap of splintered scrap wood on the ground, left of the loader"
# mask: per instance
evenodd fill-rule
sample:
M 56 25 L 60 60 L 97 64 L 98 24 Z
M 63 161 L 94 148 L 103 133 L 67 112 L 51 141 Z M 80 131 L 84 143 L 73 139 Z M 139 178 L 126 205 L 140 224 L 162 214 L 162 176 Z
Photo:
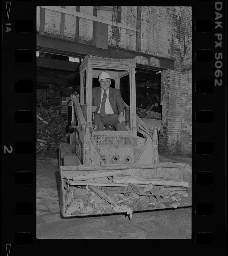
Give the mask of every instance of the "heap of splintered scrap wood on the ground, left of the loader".
M 44 155 L 47 150 L 59 148 L 59 143 L 66 143 L 62 137 L 67 117 L 61 115 L 61 108 L 62 105 L 43 107 L 41 103 L 36 106 L 36 153 L 41 151 Z

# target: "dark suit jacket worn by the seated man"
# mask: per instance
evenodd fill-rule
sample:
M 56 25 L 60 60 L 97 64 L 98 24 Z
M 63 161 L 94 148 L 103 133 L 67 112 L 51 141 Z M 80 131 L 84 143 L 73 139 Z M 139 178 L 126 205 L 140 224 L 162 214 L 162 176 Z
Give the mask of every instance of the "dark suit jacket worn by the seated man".
M 93 100 L 93 106 L 96 106 L 97 109 L 95 113 L 98 112 L 100 108 L 100 101 L 101 101 L 101 87 L 95 87 L 92 91 L 92 100 Z M 112 87 L 109 87 L 109 93 L 108 93 L 108 100 L 112 107 L 112 110 L 114 114 L 118 115 L 120 112 L 124 111 L 124 103 L 123 99 L 120 94 L 119 89 L 115 89 Z

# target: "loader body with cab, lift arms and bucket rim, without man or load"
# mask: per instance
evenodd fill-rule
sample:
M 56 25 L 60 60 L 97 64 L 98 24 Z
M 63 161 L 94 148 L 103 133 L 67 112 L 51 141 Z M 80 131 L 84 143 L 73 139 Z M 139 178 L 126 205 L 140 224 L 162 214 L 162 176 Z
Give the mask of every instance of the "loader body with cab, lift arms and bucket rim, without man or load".
M 188 165 L 159 163 L 158 127 L 145 125 L 136 115 L 135 68 L 134 59 L 107 59 L 91 55 L 80 66 L 80 95 L 71 95 L 70 128 L 74 132 L 71 133 L 70 144 L 60 145 L 60 204 L 63 216 L 68 216 L 64 190 L 69 189 L 69 184 L 73 184 L 74 177 L 78 175 L 118 169 L 123 175 L 162 175 L 191 184 L 191 168 Z M 120 89 L 121 78 L 127 78 L 129 97 L 126 101 L 129 104 L 124 102 L 127 131 L 96 131 L 93 125 L 92 88 L 103 70 L 110 73 L 115 88 Z M 71 216 L 90 214 L 76 212 Z

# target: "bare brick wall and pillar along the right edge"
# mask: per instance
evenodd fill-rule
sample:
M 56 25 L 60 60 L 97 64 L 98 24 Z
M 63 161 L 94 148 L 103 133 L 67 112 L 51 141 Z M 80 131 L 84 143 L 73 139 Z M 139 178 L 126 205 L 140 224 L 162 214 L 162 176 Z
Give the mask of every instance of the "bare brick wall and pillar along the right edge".
M 168 8 L 168 7 L 167 7 Z M 161 72 L 162 128 L 159 150 L 163 153 L 191 155 L 192 151 L 192 10 L 177 9 L 173 20 L 170 56 L 175 69 Z

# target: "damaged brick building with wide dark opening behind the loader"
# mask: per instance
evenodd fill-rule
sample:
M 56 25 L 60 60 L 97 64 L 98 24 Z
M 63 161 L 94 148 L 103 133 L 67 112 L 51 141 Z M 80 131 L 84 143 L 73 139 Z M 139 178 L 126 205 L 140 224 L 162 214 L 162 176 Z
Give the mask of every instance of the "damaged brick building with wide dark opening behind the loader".
M 36 30 L 43 101 L 62 104 L 63 89 L 76 89 L 79 64 L 88 54 L 133 58 L 137 107 L 154 102 L 152 110 L 161 116 L 159 151 L 191 155 L 191 7 L 43 6 L 37 7 Z

